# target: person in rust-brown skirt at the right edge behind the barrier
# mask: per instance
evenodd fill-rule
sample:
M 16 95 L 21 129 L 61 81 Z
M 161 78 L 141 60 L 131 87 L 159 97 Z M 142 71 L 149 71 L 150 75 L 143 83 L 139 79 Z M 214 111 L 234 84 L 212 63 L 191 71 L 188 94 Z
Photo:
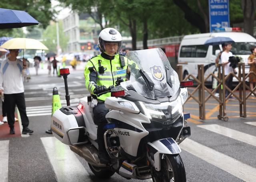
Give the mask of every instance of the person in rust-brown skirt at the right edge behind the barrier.
M 250 51 L 252 52 L 252 54 L 250 54 L 250 56 L 248 57 L 248 65 L 250 65 L 250 71 L 253 71 L 254 74 L 250 73 L 249 82 L 250 89 L 253 90 L 254 86 L 256 86 L 256 46 L 251 47 Z M 254 94 L 252 93 L 252 95 Z

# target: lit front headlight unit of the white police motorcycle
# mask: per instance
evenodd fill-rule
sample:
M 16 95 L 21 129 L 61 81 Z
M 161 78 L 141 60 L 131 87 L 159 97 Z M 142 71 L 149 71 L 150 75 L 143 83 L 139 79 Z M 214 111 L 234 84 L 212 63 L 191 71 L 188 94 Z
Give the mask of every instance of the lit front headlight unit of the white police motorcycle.
M 182 112 L 182 101 L 180 97 L 173 102 L 163 102 L 161 104 L 139 103 L 149 119 L 174 119 Z

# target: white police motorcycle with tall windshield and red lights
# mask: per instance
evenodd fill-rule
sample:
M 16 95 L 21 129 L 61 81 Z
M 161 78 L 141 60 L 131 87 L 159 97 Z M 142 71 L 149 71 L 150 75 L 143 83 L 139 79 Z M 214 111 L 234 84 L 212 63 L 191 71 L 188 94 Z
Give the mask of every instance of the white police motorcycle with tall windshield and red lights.
M 182 106 L 188 96 L 186 87 L 193 82 L 179 82 L 160 48 L 130 51 L 126 57 L 130 80 L 107 91 L 111 97 L 105 100 L 110 112 L 104 143 L 111 163 L 101 164 L 98 159 L 92 114 L 97 100 L 91 96 L 56 110 L 53 135 L 84 158 L 99 178 L 116 172 L 127 179 L 186 182 L 178 144 L 190 136 L 190 127 L 185 126 L 190 115 L 183 114 Z

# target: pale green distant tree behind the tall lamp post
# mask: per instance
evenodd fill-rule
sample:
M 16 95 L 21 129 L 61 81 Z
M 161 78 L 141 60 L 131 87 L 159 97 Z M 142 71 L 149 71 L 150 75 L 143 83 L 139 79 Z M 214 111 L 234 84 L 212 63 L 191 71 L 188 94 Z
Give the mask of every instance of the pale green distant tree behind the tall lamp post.
M 61 49 L 65 49 L 68 44 L 68 37 L 63 32 L 62 21 L 58 21 L 59 24 L 59 40 Z M 57 33 L 56 33 L 56 23 L 49 25 L 43 32 L 42 43 L 48 47 L 48 51 L 57 53 Z

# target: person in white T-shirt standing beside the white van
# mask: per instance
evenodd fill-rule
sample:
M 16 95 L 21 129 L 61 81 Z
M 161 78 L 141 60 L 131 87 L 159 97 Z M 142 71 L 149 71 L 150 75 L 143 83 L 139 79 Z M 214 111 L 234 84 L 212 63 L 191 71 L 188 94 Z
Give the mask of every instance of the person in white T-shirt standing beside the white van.
M 234 72 L 234 69 L 230 67 L 230 62 L 228 61 L 229 57 L 233 56 L 233 54 L 230 52 L 230 50 L 232 49 L 232 44 L 225 43 L 224 47 L 225 47 L 225 51 L 222 52 L 220 59 L 221 59 L 221 63 L 224 65 L 224 75 L 226 77 L 230 72 Z M 233 76 L 230 75 L 225 82 L 226 86 L 228 86 L 230 90 L 232 89 L 232 81 L 233 81 Z M 225 96 L 227 97 L 229 93 L 230 92 L 228 92 L 228 90 L 226 89 Z M 230 98 L 232 99 L 234 97 L 230 96 Z

